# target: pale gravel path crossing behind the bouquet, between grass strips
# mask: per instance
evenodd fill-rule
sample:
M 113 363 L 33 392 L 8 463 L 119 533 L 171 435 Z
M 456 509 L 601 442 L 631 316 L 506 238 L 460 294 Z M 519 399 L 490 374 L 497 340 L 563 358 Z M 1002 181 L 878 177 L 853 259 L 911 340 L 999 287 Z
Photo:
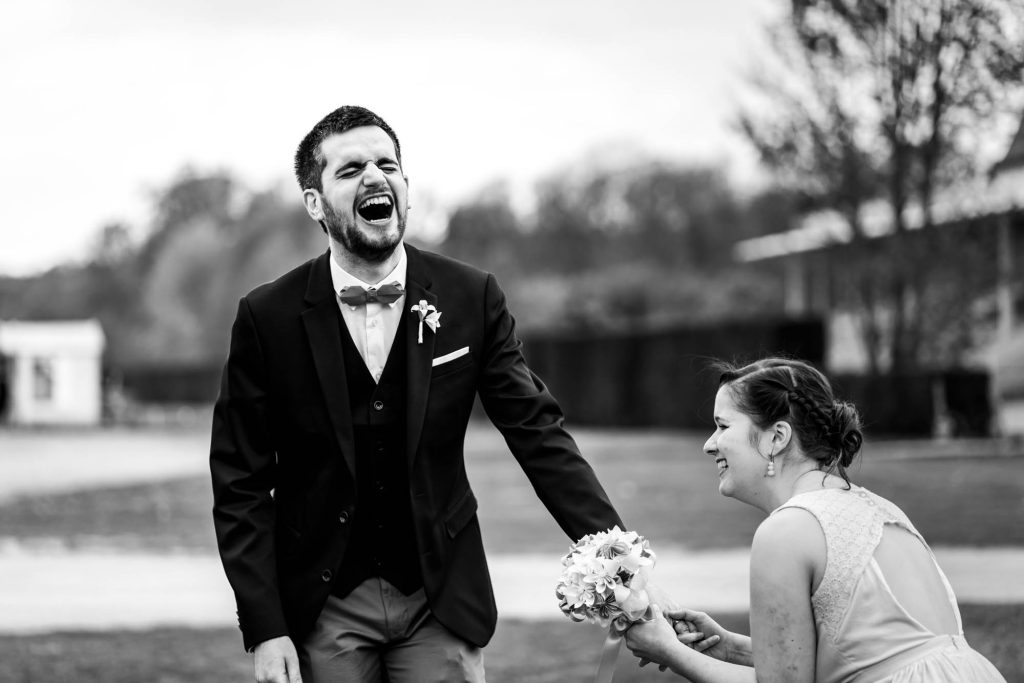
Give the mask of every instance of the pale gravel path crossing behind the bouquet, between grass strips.
M 1024 602 L 1024 549 L 938 548 L 961 602 Z M 557 557 L 493 555 L 504 618 L 559 620 Z M 213 627 L 234 624 L 231 591 L 215 557 L 27 551 L 0 548 L 0 632 Z M 745 611 L 745 550 L 663 552 L 653 580 L 679 602 L 710 612 Z

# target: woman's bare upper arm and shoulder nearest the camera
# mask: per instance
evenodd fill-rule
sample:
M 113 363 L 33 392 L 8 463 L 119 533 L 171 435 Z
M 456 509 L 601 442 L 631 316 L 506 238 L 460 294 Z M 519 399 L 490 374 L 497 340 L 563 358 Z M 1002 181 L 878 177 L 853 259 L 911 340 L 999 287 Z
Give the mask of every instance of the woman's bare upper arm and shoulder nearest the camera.
M 824 561 L 824 535 L 805 510 L 780 510 L 754 535 L 751 640 L 760 683 L 813 683 L 817 632 L 811 593 Z

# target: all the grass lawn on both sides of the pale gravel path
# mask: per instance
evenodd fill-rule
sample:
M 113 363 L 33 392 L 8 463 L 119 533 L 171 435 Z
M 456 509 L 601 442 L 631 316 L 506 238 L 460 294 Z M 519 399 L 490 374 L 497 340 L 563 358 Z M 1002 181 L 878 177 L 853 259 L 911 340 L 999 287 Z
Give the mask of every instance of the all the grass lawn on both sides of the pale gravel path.
M 762 515 L 719 496 L 714 464 L 700 453 L 703 435 L 577 435 L 628 524 L 649 537 L 655 550 L 750 544 Z M 568 541 L 501 438 L 493 430 L 471 431 L 467 459 L 489 552 L 551 553 L 557 562 Z M 891 457 L 884 444 L 868 443 L 853 478 L 897 502 L 933 544 L 1024 545 L 1021 458 L 905 460 Z M 23 497 L 0 505 L 0 541 L 214 553 L 211 504 L 206 475 Z M 1024 681 L 1024 605 L 963 609 L 972 644 L 1009 681 Z M 745 614 L 716 617 L 728 628 L 746 629 Z M 500 622 L 486 650 L 488 680 L 592 680 L 602 639 L 599 629 L 568 621 Z M 0 681 L 219 683 L 252 680 L 251 667 L 234 629 L 0 636 Z M 671 680 L 650 667 L 638 669 L 628 653 L 615 678 Z

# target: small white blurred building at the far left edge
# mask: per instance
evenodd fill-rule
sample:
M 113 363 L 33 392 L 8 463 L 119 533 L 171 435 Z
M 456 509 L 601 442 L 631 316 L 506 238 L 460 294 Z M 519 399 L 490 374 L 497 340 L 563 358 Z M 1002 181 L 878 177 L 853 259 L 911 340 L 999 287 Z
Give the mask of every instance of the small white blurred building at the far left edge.
M 0 321 L 0 423 L 99 424 L 103 345 L 94 319 Z

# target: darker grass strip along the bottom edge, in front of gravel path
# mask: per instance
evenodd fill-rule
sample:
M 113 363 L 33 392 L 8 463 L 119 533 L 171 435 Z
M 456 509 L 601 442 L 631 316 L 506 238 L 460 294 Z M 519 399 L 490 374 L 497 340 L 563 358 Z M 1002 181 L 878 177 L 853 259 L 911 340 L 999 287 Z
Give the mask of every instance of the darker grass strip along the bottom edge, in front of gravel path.
M 1024 633 L 1024 605 L 964 606 L 965 631 L 1008 681 L 1024 681 L 1024 650 L 1006 633 Z M 746 631 L 745 614 L 722 614 Z M 485 650 L 490 683 L 584 683 L 593 680 L 603 634 L 586 624 L 500 622 Z M 0 636 L 0 680 L 46 683 L 227 683 L 252 681 L 252 659 L 234 629 Z M 682 681 L 640 669 L 625 648 L 615 683 Z

